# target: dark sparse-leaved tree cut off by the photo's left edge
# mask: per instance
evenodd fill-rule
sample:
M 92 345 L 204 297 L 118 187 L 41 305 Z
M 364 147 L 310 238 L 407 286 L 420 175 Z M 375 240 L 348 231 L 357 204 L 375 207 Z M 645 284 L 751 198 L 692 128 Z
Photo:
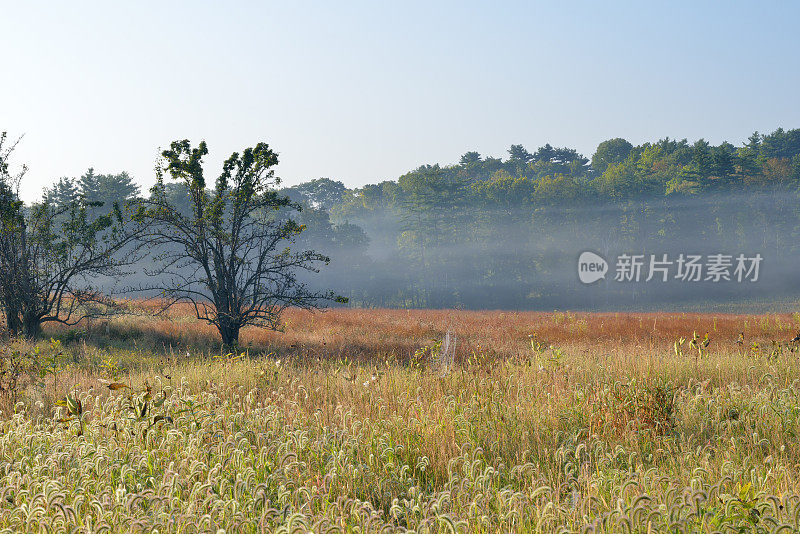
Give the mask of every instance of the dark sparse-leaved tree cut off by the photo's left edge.
M 16 143 L 3 148 L 0 136 L 0 301 L 12 335 L 39 335 L 42 323 L 74 325 L 109 313 L 115 303 L 96 289 L 98 276 L 119 275 L 126 247 L 137 232 L 118 204 L 105 215 L 89 216 L 97 203 L 77 198 L 54 205 L 46 197 L 26 207 L 19 183 L 26 168 L 9 171 Z M 129 222 L 129 221 L 128 221 Z

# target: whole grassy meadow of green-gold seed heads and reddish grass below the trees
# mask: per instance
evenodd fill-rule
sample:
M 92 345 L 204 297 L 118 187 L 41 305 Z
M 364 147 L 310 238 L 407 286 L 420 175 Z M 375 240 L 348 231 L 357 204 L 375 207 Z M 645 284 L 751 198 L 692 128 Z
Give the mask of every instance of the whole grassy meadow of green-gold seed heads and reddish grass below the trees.
M 0 531 L 800 530 L 800 315 L 284 323 L 5 340 Z

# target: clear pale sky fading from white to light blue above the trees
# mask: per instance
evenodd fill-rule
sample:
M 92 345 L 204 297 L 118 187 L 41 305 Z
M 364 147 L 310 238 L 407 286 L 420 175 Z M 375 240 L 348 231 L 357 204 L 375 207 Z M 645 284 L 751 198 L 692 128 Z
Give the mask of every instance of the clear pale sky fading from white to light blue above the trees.
M 265 141 L 284 185 L 461 154 L 800 127 L 800 2 L 0 0 L 0 131 L 21 195 L 206 140 Z

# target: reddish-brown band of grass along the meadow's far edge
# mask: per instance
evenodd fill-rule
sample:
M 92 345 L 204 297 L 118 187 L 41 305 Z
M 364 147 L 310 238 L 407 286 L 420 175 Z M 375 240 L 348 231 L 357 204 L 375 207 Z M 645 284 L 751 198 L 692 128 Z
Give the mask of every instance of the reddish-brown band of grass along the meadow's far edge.
M 97 338 L 131 339 L 150 349 L 219 350 L 215 328 L 194 318 L 188 305 L 177 305 L 163 317 L 148 314 L 147 304 L 135 303 L 135 316 L 82 324 Z M 246 328 L 241 344 L 255 351 L 373 359 L 394 354 L 408 358 L 421 346 L 450 330 L 460 340 L 457 358 L 478 346 L 499 356 L 530 352 L 529 336 L 564 348 L 661 351 L 693 332 L 709 333 L 710 351 L 737 351 L 753 342 L 787 341 L 800 330 L 795 314 L 703 313 L 585 313 L 463 310 L 329 309 L 311 312 L 290 309 L 283 315 L 283 331 Z M 64 335 L 65 327 L 46 329 Z M 736 341 L 744 333 L 744 346 Z

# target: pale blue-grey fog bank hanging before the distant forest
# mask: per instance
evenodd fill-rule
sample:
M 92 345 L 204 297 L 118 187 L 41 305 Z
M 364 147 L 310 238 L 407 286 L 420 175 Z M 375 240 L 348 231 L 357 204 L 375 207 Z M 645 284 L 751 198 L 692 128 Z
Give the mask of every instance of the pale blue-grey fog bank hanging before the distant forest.
M 331 264 L 309 284 L 356 306 L 467 309 L 786 309 L 800 297 L 800 210 L 786 192 L 717 193 L 546 209 L 465 210 L 409 238 L 403 213 L 351 220 L 366 248 L 324 251 Z M 441 221 L 440 221 L 441 222 Z M 410 243 L 409 243 L 410 242 Z M 313 239 L 299 245 L 320 246 Z M 578 256 L 608 262 L 605 279 L 583 284 Z M 643 255 L 642 276 L 618 281 L 616 260 Z M 669 279 L 646 281 L 651 255 L 666 254 Z M 679 255 L 700 255 L 701 281 L 677 279 Z M 731 256 L 730 280 L 706 280 L 709 256 Z M 736 258 L 760 255 L 758 278 L 737 281 Z M 723 269 L 724 270 L 724 269 Z

